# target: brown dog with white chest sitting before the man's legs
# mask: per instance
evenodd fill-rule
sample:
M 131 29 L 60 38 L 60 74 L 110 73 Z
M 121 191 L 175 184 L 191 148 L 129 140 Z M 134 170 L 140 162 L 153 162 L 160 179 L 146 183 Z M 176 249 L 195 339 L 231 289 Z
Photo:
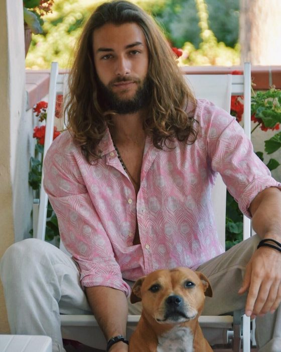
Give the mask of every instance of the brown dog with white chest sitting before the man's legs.
M 130 338 L 130 352 L 211 352 L 198 317 L 208 279 L 188 268 L 158 270 L 137 280 L 131 303 L 142 301 L 143 312 Z

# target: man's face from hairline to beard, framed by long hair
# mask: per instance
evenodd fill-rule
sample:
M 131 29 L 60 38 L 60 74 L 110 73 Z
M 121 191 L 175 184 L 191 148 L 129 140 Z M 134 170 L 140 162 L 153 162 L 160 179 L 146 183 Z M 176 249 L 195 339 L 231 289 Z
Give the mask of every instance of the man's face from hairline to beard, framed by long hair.
M 107 109 L 129 114 L 148 106 L 151 98 L 149 53 L 135 23 L 106 24 L 93 33 L 98 98 Z

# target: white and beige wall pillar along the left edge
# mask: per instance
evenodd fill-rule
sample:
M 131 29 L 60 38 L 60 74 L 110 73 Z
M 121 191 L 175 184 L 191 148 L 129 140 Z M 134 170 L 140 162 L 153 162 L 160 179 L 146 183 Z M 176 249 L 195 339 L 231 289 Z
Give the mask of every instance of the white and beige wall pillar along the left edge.
M 0 257 L 30 228 L 31 113 L 25 111 L 23 2 L 0 2 Z M 6 15 L 5 15 L 6 14 Z M 9 30 L 7 30 L 9 28 Z M 19 211 L 21 209 L 21 211 Z M 9 331 L 0 287 L 0 333 Z

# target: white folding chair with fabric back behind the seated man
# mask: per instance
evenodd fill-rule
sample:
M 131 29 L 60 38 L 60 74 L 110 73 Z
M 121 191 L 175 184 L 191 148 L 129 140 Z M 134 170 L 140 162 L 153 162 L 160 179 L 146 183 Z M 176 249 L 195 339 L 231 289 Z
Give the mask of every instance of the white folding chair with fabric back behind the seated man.
M 250 64 L 245 63 L 243 75 L 186 75 L 186 79 L 193 87 L 197 98 L 205 98 L 217 106 L 230 112 L 231 95 L 244 96 L 244 130 L 250 138 Z M 50 89 L 48 99 L 46 137 L 44 147 L 45 154 L 52 143 L 56 94 L 65 94 L 67 89 L 68 75 L 58 74 L 58 64 L 52 63 L 50 76 Z M 43 180 L 43 175 L 42 175 Z M 42 184 L 41 184 L 42 185 Z M 212 201 L 215 210 L 215 219 L 220 234 L 220 241 L 225 246 L 225 208 L 226 208 L 226 186 L 219 176 L 213 190 Z M 34 237 L 45 239 L 45 224 L 47 214 L 48 197 L 41 187 L 40 203 L 34 202 Z M 244 217 L 244 239 L 250 236 L 250 220 Z M 60 248 L 67 252 L 60 242 Z M 64 338 L 75 339 L 89 346 L 105 349 L 106 341 L 93 315 L 61 315 L 61 328 Z M 139 316 L 129 315 L 127 320 L 127 337 L 138 322 Z M 241 314 L 236 312 L 234 316 L 201 316 L 199 322 L 203 329 L 206 327 L 233 329 L 233 350 L 240 351 L 241 342 Z M 233 337 L 234 336 L 234 337 Z M 250 320 L 243 316 L 243 351 L 250 351 Z M 224 340 L 227 342 L 227 337 Z

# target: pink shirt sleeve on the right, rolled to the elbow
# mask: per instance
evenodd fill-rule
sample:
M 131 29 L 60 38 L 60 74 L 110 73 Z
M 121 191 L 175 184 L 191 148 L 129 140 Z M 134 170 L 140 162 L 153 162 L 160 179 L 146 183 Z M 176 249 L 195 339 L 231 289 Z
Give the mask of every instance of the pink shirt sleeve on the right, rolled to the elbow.
M 206 105 L 211 115 L 206 136 L 211 167 L 221 174 L 241 212 L 251 217 L 248 209 L 256 195 L 268 187 L 281 190 L 281 184 L 271 177 L 269 169 L 254 153 L 251 141 L 236 119 L 209 102 Z

